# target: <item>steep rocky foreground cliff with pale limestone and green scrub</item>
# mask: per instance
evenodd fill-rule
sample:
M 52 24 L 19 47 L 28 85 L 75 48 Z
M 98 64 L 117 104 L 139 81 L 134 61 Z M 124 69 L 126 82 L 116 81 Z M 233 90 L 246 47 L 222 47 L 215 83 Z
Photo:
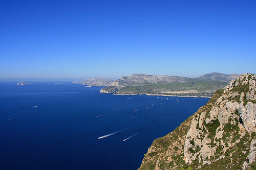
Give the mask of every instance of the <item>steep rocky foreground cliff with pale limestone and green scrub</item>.
M 173 132 L 155 139 L 142 169 L 255 169 L 256 75 L 217 90 Z

